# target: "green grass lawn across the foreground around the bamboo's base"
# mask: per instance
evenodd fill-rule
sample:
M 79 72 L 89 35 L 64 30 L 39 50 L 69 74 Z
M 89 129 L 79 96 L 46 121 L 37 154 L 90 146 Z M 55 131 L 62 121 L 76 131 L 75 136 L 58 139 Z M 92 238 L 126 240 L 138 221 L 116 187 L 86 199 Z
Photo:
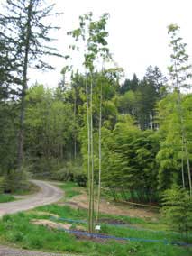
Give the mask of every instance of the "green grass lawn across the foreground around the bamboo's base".
M 71 191 L 73 191 L 73 189 L 78 192 L 77 187 L 74 187 L 71 183 L 63 185 L 63 189 L 67 189 L 68 197 L 72 197 L 73 192 Z M 74 192 L 74 194 L 76 193 Z M 11 244 L 14 243 L 16 246 L 30 250 L 72 252 L 89 256 L 192 255 L 192 248 L 169 244 L 169 242 L 172 241 L 181 242 L 183 241 L 183 238 L 178 233 L 164 231 L 163 224 L 160 222 L 154 223 L 150 220 L 132 218 L 129 216 L 101 215 L 101 233 L 117 237 L 160 240 L 160 242 L 118 242 L 114 240 L 92 241 L 86 239 L 86 237 L 80 239 L 74 234 L 32 224 L 32 220 L 34 219 L 48 219 L 62 224 L 69 223 L 69 221 L 61 221 L 57 217 L 52 219 L 48 213 L 57 215 L 58 218 L 61 217 L 78 221 L 87 220 L 87 210 L 73 209 L 70 206 L 59 205 L 40 206 L 26 213 L 5 215 L 3 219 L 0 220 L 0 241 Z M 108 220 L 112 223 L 116 222 L 128 225 L 114 226 L 105 224 Z M 151 230 L 155 224 L 156 226 L 161 227 L 160 232 L 157 231 L 157 229 Z M 84 228 L 87 227 L 86 223 L 73 223 L 71 229 L 77 229 L 79 225 Z

